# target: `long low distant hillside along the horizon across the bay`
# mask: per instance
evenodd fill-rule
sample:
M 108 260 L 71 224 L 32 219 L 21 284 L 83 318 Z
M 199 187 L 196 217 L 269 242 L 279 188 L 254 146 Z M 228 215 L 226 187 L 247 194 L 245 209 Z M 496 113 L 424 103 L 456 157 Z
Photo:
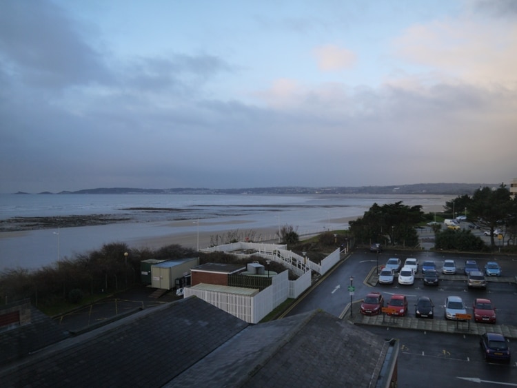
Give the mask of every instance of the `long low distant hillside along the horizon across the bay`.
M 179 187 L 174 189 L 139 189 L 111 187 L 60 192 L 59 194 L 441 194 L 472 195 L 480 187 L 499 187 L 500 183 L 418 183 L 416 185 L 361 187 L 248 187 L 208 189 Z M 40 194 L 51 194 L 49 192 Z

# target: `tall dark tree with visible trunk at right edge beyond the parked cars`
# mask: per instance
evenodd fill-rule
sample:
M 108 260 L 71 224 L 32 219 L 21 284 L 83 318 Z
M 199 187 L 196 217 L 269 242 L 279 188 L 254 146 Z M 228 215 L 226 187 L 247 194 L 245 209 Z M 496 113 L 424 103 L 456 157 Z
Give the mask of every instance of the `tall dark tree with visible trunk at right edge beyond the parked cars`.
M 496 246 L 494 230 L 511 225 L 516 216 L 515 211 L 516 206 L 510 192 L 505 184 L 501 183 L 496 190 L 483 187 L 474 192 L 469 205 L 469 218 L 475 220 L 480 227 L 489 229 L 490 245 L 493 248 Z

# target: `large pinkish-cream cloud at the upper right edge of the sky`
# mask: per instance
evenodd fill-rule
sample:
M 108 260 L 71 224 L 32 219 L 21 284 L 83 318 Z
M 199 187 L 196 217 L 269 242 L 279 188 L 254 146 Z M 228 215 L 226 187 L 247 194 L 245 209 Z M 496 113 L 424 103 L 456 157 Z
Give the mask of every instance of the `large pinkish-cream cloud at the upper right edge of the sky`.
M 413 25 L 393 42 L 394 53 L 423 66 L 435 82 L 517 89 L 517 26 L 472 19 Z

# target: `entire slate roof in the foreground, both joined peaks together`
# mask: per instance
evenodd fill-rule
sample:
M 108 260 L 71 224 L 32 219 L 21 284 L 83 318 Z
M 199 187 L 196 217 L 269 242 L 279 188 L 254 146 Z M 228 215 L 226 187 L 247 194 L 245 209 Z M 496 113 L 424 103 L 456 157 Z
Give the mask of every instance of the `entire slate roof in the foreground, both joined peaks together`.
M 387 342 L 315 310 L 250 325 L 194 296 L 0 367 L 4 387 L 375 387 Z

